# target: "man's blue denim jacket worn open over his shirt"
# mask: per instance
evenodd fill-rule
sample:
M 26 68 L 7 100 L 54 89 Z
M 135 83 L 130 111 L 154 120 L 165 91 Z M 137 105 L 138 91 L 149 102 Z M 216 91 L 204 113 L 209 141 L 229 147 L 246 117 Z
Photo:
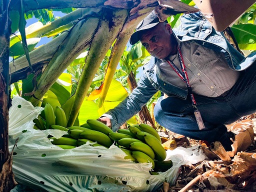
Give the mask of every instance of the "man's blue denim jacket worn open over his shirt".
M 222 32 L 216 31 L 211 26 L 209 21 L 200 12 L 183 14 L 180 19 L 179 27 L 173 29 L 178 41 L 189 40 L 201 46 L 222 52 L 227 64 L 233 70 L 243 70 L 255 60 L 256 51 L 244 57 L 228 43 Z M 143 74 L 132 93 L 114 109 L 110 109 L 102 115 L 110 118 L 113 131 L 116 131 L 120 125 L 139 112 L 141 107 L 158 90 L 167 95 L 175 95 L 186 99 L 187 89 L 182 89 L 163 81 L 156 72 L 156 62 L 160 62 L 160 60 L 151 57 L 150 61 L 143 66 Z

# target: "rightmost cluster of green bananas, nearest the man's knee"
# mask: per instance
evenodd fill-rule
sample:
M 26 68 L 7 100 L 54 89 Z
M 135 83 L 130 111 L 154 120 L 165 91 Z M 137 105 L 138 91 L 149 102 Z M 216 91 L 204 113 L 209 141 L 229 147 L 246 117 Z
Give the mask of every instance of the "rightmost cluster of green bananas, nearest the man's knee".
M 125 159 L 151 162 L 154 169 L 155 164 L 158 168 L 161 164 L 159 162 L 166 158 L 166 151 L 161 145 L 159 134 L 147 124 L 130 125 L 128 129 L 118 129 L 108 136 L 126 153 Z

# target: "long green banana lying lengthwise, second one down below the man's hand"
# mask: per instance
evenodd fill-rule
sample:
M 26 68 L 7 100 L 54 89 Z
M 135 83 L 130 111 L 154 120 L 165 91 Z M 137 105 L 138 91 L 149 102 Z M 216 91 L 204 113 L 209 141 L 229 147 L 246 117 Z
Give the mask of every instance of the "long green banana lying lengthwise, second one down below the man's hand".
M 80 133 L 80 138 L 87 138 L 92 141 L 96 141 L 106 147 L 113 144 L 113 141 L 104 133 L 96 130 L 84 130 Z

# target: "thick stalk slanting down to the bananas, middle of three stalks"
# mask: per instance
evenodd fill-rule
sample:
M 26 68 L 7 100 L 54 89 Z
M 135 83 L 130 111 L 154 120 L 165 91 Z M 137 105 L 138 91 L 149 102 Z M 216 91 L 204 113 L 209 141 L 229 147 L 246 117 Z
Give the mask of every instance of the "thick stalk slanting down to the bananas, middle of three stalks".
M 110 14 L 111 11 L 113 11 L 112 14 Z M 107 50 L 111 46 L 111 43 L 121 30 L 123 21 L 126 19 L 127 14 L 127 10 L 125 9 L 107 9 L 103 15 L 103 19 L 100 20 L 100 27 L 97 28 L 97 31 L 91 41 L 84 68 L 74 93 L 75 102 L 71 108 L 70 115 L 67 120 L 67 126 L 71 126 L 74 123 L 91 81 Z

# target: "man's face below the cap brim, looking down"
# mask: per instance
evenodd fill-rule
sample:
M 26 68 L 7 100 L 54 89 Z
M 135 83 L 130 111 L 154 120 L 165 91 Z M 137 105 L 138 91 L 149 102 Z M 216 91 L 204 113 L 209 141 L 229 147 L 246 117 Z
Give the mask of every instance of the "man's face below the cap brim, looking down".
M 169 24 L 159 22 L 141 35 L 140 42 L 150 55 L 159 59 L 165 58 L 170 54 L 176 54 L 177 51 L 177 42 L 171 38 L 171 33 L 172 30 Z M 175 42 L 172 42 L 174 40 Z

